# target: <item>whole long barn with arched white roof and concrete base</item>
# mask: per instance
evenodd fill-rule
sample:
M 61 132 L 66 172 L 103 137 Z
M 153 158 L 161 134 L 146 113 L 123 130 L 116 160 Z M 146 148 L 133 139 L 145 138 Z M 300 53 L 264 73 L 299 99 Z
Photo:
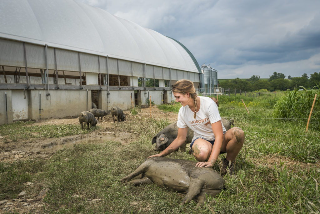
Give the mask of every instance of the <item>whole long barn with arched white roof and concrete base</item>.
M 20 12 L 19 12 L 20 11 Z M 76 0 L 0 4 L 0 123 L 173 100 L 200 67 L 175 39 Z

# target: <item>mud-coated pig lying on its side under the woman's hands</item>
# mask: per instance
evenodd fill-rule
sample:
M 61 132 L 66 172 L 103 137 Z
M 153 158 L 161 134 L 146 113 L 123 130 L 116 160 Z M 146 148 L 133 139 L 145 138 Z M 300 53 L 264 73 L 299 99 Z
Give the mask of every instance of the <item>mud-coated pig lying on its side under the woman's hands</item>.
M 140 174 L 140 179 L 130 181 Z M 190 160 L 164 157 L 148 158 L 130 175 L 120 179 L 120 182 L 134 185 L 155 183 L 160 187 L 186 193 L 180 205 L 196 199 L 197 207 L 204 204 L 205 193 L 215 196 L 224 189 L 223 178 L 214 169 L 196 167 L 196 162 Z

